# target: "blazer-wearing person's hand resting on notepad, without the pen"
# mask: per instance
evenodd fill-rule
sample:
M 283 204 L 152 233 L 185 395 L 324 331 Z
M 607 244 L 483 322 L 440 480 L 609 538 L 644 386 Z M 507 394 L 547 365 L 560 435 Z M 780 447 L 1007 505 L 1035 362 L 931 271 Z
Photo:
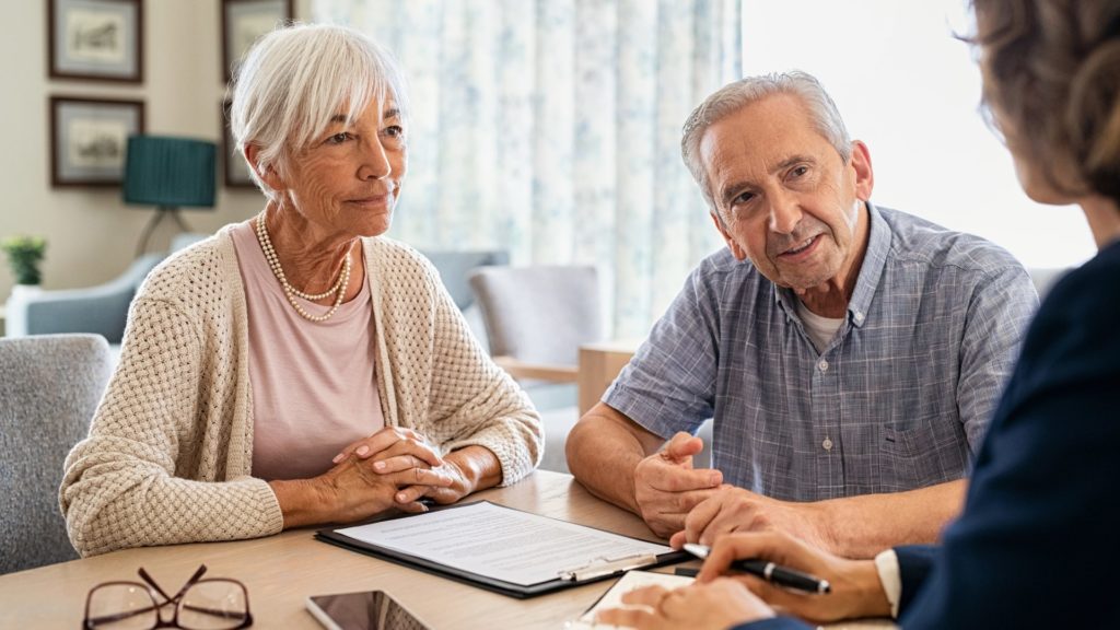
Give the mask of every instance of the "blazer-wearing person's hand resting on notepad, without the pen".
M 661 586 L 636 589 L 623 595 L 623 603 L 633 608 L 605 610 L 595 621 L 641 630 L 724 630 L 774 617 L 765 602 L 726 577 L 675 591 Z

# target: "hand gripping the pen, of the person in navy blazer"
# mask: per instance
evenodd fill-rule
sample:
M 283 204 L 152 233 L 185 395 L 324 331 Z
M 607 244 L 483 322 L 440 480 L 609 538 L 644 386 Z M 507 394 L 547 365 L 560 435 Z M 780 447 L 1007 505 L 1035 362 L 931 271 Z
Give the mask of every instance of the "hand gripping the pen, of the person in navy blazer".
M 719 582 L 737 559 L 759 558 L 828 580 L 832 592 L 809 594 L 775 586 L 754 575 L 734 574 L 735 580 L 775 608 L 802 619 L 829 622 L 839 619 L 889 617 L 890 604 L 879 582 L 875 560 L 849 560 L 833 556 L 780 531 L 732 534 L 716 540 L 697 582 Z

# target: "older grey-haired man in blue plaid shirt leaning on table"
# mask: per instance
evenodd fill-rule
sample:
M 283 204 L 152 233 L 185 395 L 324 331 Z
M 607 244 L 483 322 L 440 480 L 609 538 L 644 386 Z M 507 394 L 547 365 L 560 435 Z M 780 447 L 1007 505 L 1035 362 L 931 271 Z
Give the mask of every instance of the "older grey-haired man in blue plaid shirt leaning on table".
M 855 557 L 934 540 L 1037 305 L 1027 272 L 871 204 L 868 148 L 808 74 L 722 87 L 681 147 L 727 249 L 579 420 L 571 471 L 675 546 L 767 528 Z M 711 445 L 693 437 L 708 418 Z M 693 469 L 706 446 L 713 469 Z

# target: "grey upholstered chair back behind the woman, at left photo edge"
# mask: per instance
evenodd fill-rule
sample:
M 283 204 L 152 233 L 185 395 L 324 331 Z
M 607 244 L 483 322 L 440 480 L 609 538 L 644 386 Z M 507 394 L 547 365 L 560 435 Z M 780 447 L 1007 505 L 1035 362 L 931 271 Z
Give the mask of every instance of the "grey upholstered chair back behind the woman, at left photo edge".
M 0 574 L 77 557 L 58 487 L 111 369 L 96 335 L 0 339 Z

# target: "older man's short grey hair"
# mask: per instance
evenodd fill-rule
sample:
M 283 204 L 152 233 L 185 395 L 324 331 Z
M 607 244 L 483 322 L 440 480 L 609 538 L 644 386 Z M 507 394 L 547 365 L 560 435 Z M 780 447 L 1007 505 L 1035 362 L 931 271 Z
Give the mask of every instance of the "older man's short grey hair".
M 704 200 L 712 214 L 720 216 L 716 200 L 708 182 L 708 173 L 700 159 L 700 140 L 709 127 L 732 113 L 752 105 L 774 94 L 797 96 L 805 103 L 809 118 L 821 136 L 836 147 L 838 154 L 847 164 L 851 157 L 851 138 L 840 118 L 837 104 L 832 102 L 820 81 L 801 71 L 748 76 L 735 83 L 729 83 L 700 103 L 692 110 L 681 137 L 681 157 L 692 173 L 692 178 L 700 186 Z

